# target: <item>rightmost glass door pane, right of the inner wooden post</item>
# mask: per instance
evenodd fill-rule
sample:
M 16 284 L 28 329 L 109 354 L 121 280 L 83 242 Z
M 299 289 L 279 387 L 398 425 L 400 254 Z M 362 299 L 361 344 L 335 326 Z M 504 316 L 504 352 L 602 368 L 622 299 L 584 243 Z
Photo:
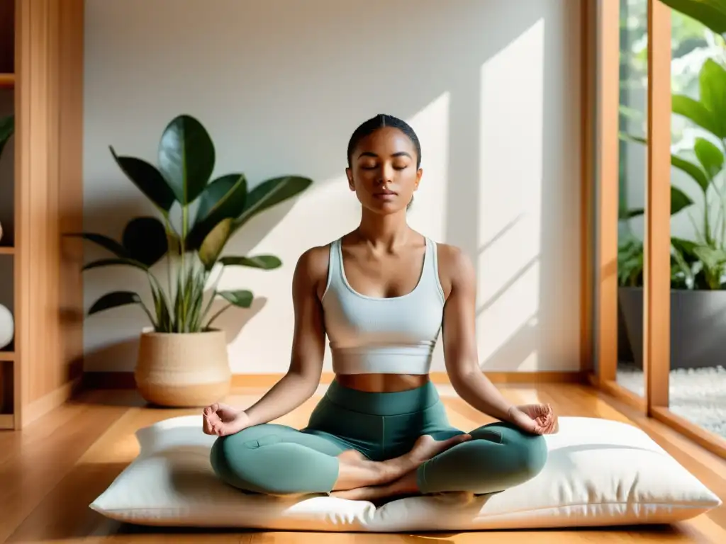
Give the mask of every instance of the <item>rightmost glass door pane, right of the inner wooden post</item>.
M 655 412 L 726 449 L 726 47 L 709 19 L 689 14 L 692 2 L 660 4 L 669 19 L 662 41 L 670 50 L 674 168 L 670 352 Z

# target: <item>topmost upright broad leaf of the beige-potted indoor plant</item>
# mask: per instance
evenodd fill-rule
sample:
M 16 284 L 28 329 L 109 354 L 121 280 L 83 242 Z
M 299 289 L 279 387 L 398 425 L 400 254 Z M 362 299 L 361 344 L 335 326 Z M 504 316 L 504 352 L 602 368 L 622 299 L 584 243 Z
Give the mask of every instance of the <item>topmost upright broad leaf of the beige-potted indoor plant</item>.
M 171 120 L 159 142 L 159 169 L 182 206 L 207 186 L 214 161 L 214 144 L 202 123 L 190 115 Z

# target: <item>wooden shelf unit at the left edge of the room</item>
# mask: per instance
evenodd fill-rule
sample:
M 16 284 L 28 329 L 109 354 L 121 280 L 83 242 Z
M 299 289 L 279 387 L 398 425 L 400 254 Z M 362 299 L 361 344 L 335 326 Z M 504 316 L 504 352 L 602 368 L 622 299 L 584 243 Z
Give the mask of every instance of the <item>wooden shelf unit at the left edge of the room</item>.
M 0 267 L 0 284 L 12 285 L 0 304 L 15 321 L 0 348 L 0 429 L 65 402 L 83 371 L 83 250 L 63 236 L 83 221 L 83 4 L 0 0 L 0 117 L 15 115 L 0 157 L 12 162 L 0 168 L 0 199 L 13 195 L 11 213 L 0 206 L 0 263 L 12 261 Z

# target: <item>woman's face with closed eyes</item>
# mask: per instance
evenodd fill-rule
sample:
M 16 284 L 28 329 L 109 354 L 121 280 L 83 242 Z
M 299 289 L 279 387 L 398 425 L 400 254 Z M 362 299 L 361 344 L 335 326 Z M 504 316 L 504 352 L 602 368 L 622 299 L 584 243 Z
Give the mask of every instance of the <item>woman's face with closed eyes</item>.
M 416 160 L 416 147 L 406 134 L 379 128 L 353 150 L 351 168 L 346 168 L 348 186 L 375 213 L 405 210 L 423 174 Z

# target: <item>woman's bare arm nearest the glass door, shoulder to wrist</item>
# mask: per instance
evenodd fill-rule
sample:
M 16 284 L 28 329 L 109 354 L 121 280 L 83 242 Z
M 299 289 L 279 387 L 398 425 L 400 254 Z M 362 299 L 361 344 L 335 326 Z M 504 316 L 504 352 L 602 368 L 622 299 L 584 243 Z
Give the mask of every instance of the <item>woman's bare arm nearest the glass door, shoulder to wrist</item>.
M 458 248 L 442 246 L 441 268 L 449 296 L 444 305 L 442 333 L 446 373 L 457 394 L 478 411 L 501 421 L 513 421 L 510 403 L 479 368 L 476 347 L 476 273 Z

